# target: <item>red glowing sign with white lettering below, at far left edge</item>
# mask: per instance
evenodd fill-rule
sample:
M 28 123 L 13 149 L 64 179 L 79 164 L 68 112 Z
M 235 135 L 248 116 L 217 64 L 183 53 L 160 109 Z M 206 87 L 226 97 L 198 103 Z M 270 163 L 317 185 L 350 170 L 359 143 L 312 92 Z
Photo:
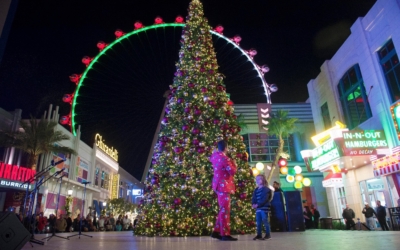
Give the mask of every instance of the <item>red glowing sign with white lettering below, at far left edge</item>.
M 0 163 L 0 187 L 26 189 L 28 184 L 22 186 L 21 184 L 35 176 L 35 174 L 36 171 L 29 168 Z

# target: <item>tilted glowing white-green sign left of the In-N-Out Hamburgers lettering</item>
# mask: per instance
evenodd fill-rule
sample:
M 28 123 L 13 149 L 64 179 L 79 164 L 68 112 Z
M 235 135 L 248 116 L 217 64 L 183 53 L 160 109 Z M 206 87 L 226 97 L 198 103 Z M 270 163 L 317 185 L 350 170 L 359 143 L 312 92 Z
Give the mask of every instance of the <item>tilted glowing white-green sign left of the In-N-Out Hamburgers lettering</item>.
M 335 141 L 331 139 L 313 149 L 311 167 L 313 169 L 318 169 L 320 166 L 336 160 L 340 156 L 339 148 L 336 146 Z

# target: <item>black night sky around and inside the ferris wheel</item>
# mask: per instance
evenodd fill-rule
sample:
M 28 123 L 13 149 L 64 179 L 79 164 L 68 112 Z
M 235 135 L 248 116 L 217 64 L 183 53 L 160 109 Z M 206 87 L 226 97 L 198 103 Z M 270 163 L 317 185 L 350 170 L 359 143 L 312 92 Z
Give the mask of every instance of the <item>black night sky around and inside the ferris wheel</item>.
M 279 91 L 273 103 L 304 102 L 307 83 L 350 34 L 374 0 L 203 0 L 212 27 L 242 37 L 243 49 L 258 51 L 255 61 L 267 64 L 268 83 Z M 152 25 L 156 16 L 173 22 L 185 17 L 189 0 L 20 0 L 0 64 L 0 107 L 40 116 L 50 103 L 69 113 L 62 102 L 75 84 L 69 75 L 82 73 L 83 56 L 96 56 L 98 41 L 115 40 L 114 31 L 133 30 L 140 20 Z M 82 140 L 92 145 L 95 133 L 119 151 L 120 165 L 141 179 L 151 141 L 178 60 L 179 28 L 132 36 L 88 74 L 77 106 Z M 220 71 L 236 104 L 265 102 L 261 82 L 240 53 L 215 40 Z

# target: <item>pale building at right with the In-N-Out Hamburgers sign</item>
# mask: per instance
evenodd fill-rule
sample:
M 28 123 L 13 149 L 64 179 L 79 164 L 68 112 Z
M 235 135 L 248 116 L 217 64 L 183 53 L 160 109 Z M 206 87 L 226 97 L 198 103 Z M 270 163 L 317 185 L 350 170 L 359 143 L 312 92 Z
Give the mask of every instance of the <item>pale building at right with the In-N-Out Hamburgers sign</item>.
M 397 206 L 399 6 L 398 0 L 377 0 L 308 83 L 317 136 L 303 157 L 325 175 L 333 218 L 342 217 L 346 204 L 362 221 L 364 203 Z

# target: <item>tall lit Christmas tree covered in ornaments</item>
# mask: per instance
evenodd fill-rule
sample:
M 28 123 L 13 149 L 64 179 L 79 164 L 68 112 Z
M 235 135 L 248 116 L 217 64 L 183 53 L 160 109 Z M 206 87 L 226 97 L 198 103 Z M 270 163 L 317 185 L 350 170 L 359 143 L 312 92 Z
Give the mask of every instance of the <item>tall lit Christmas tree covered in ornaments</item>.
M 219 140 L 228 142 L 230 157 L 238 165 L 236 193 L 231 195 L 231 231 L 254 231 L 254 179 L 233 103 L 227 97 L 223 75 L 218 73 L 209 30 L 202 3 L 193 0 L 182 32 L 166 115 L 139 206 L 136 235 L 211 233 L 219 208 L 211 188 L 213 168 L 209 157 Z

